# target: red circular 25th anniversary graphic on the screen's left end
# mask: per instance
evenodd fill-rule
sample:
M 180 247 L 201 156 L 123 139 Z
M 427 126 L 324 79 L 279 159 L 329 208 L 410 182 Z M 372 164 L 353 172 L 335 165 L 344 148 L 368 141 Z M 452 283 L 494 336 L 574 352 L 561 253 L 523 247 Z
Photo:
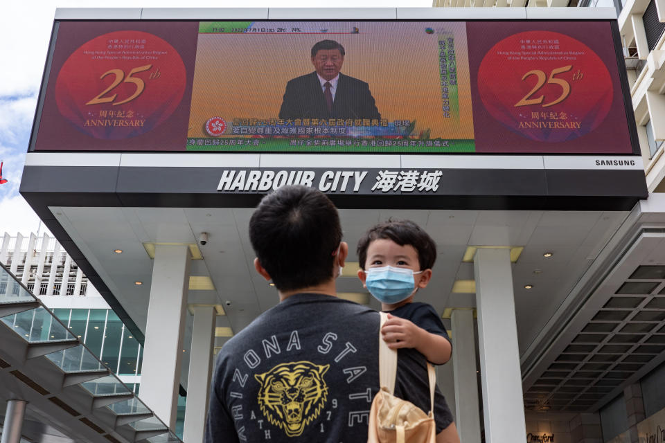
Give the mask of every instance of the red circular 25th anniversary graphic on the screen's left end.
M 182 100 L 186 69 L 166 40 L 138 30 L 100 35 L 76 49 L 55 82 L 60 114 L 94 138 L 145 134 Z

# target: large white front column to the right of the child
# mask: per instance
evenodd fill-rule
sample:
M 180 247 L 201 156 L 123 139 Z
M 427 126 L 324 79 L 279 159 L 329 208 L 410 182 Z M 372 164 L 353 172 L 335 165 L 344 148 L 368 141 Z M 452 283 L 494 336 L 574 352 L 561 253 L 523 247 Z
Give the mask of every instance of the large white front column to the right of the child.
M 522 442 L 526 423 L 510 249 L 478 248 L 473 262 L 486 442 Z

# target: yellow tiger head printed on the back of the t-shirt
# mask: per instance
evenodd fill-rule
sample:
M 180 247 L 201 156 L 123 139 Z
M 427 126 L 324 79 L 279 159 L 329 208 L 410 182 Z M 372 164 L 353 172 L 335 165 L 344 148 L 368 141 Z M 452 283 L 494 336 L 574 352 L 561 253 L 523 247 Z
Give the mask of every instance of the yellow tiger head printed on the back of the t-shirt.
M 254 378 L 261 384 L 258 404 L 274 426 L 289 437 L 298 437 L 326 404 L 328 386 L 323 380 L 330 365 L 309 361 L 281 363 Z

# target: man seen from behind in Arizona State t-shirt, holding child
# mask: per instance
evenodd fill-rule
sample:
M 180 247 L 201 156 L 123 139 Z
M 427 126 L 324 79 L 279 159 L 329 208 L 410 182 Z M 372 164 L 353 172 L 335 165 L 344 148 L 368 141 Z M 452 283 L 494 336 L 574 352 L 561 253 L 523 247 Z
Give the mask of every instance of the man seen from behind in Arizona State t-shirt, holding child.
M 348 255 L 337 209 L 318 190 L 285 186 L 260 202 L 249 238 L 280 302 L 220 350 L 205 442 L 366 442 L 379 314 L 335 296 Z M 425 358 L 398 354 L 396 395 L 429 410 Z

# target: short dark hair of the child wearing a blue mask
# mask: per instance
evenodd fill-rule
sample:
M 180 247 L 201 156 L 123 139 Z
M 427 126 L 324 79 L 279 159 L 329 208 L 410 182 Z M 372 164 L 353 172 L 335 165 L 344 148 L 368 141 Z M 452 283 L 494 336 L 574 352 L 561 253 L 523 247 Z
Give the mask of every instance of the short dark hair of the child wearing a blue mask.
M 410 220 L 388 219 L 380 224 L 375 224 L 360 238 L 356 252 L 360 268 L 365 269 L 367 260 L 367 248 L 369 244 L 378 239 L 390 239 L 400 246 L 409 244 L 418 253 L 418 264 L 420 269 L 432 269 L 436 260 L 436 243 L 429 234 Z

